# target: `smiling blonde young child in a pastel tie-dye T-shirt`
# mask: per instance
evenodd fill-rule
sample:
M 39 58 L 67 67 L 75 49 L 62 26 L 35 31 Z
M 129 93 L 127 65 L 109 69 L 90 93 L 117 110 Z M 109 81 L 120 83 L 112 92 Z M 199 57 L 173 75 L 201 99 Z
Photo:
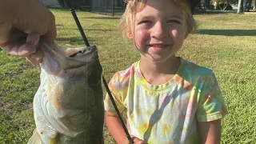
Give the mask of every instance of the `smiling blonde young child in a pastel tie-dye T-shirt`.
M 120 26 L 141 55 L 109 86 L 134 143 L 220 143 L 227 114 L 212 70 L 175 56 L 195 27 L 186 0 L 129 0 Z M 129 143 L 110 98 L 106 125 L 116 142 Z

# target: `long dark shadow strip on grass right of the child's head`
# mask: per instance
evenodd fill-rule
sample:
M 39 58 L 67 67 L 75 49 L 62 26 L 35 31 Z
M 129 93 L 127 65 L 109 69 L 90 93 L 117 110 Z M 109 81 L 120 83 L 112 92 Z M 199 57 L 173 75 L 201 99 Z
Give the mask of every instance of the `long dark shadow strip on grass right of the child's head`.
M 196 34 L 224 36 L 255 36 L 256 30 L 198 30 Z

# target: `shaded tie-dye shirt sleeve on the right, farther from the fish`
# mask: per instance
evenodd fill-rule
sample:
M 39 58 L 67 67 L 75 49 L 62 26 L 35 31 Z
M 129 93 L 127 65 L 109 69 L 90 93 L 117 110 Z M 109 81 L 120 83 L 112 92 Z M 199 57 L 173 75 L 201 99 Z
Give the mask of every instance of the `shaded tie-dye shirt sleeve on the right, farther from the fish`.
M 200 90 L 199 90 L 200 92 Z M 211 72 L 202 81 L 197 108 L 198 122 L 210 122 L 223 118 L 227 114 L 224 98 L 219 89 L 217 79 Z

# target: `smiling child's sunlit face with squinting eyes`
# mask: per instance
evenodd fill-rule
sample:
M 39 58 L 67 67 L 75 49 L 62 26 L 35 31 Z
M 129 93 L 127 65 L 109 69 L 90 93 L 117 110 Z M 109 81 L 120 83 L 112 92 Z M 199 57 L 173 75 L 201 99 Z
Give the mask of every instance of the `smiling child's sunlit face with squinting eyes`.
M 186 18 L 173 0 L 147 0 L 135 15 L 135 45 L 142 58 L 163 62 L 174 57 L 186 38 Z

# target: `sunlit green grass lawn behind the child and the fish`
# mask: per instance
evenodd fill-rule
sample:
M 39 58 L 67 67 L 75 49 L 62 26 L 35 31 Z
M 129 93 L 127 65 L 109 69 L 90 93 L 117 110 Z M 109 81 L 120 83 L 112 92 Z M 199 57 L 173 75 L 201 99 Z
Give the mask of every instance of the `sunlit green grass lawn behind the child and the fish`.
M 84 46 L 70 11 L 52 10 L 57 43 Z M 118 18 L 77 12 L 89 39 L 97 45 L 108 80 L 138 60 L 131 42 L 118 33 Z M 256 143 L 256 17 L 255 14 L 199 14 L 178 56 L 214 70 L 229 114 L 222 121 L 222 143 Z M 0 50 L 0 143 L 26 143 L 34 130 L 32 102 L 40 84 L 38 66 Z M 105 142 L 114 143 L 105 130 Z

